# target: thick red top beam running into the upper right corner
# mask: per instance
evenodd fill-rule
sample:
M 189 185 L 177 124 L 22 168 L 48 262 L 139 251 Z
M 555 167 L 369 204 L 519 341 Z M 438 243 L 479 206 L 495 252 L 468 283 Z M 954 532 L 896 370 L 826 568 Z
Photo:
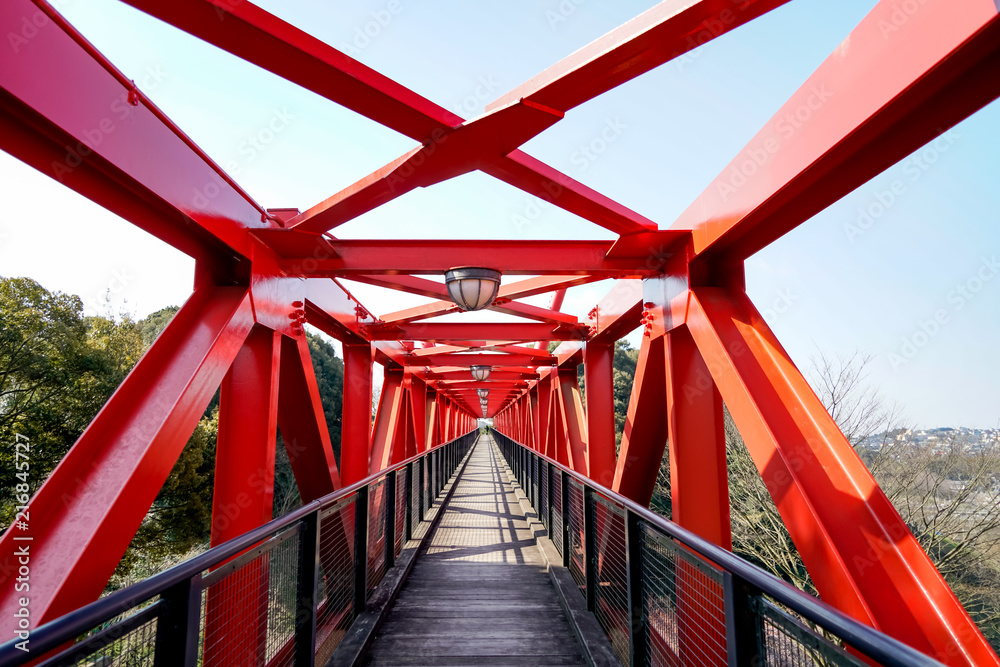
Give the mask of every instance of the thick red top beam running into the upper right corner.
M 749 257 L 1000 95 L 994 0 L 899 11 L 876 5 L 672 225 L 696 252 Z

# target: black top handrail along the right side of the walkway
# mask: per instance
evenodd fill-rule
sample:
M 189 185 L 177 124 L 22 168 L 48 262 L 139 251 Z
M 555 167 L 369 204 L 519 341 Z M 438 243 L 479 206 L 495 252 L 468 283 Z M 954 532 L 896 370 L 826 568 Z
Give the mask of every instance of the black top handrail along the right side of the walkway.
M 677 540 L 705 560 L 730 573 L 737 589 L 746 588 L 747 586 L 751 590 L 757 589 L 761 593 L 777 600 L 794 613 L 801 615 L 803 618 L 815 623 L 818 627 L 839 637 L 859 653 L 877 660 L 885 667 L 941 667 L 942 663 L 924 653 L 847 616 L 822 600 L 791 586 L 773 574 L 734 555 L 732 552 L 663 518 L 649 508 L 639 505 L 635 501 L 607 487 L 601 486 L 589 477 L 585 477 L 567 468 L 558 461 L 540 454 L 530 447 L 500 433 L 496 429 L 491 429 L 491 432 L 494 438 L 499 441 L 498 444 L 506 441 L 510 445 L 521 448 L 529 457 L 537 457 L 539 460 L 545 461 L 554 470 L 562 472 L 564 479 L 567 477 L 574 479 L 584 489 L 592 489 L 608 500 L 621 505 L 626 512 L 626 521 L 628 515 L 632 514 L 647 525 L 654 527 L 660 533 Z M 511 460 L 508 461 L 515 468 L 515 474 L 522 473 L 521 470 L 517 469 L 522 465 L 519 459 L 520 457 L 518 456 L 512 456 Z M 566 493 L 565 488 L 563 493 Z M 565 521 L 563 522 L 564 526 L 566 523 Z M 590 543 L 590 539 L 585 539 L 585 541 L 587 544 Z M 564 551 L 568 553 L 568 548 L 564 547 Z M 634 626 L 635 624 L 633 623 L 632 625 Z

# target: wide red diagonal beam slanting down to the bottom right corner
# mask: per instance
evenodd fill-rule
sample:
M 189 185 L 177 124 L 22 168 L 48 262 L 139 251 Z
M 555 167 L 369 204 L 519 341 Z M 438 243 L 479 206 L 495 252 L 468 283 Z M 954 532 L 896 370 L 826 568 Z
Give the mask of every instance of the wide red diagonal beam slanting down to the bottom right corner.
M 745 294 L 696 288 L 688 328 L 820 596 L 949 665 L 998 665 Z

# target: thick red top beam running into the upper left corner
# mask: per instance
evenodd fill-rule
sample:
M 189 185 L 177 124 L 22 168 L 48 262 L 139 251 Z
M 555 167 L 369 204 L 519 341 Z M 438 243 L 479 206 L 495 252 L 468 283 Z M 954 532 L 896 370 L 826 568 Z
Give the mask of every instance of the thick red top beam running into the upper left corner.
M 48 4 L 0 3 L 0 29 L 41 12 L 0 54 L 0 148 L 196 258 L 246 255 L 246 230 L 277 227 Z

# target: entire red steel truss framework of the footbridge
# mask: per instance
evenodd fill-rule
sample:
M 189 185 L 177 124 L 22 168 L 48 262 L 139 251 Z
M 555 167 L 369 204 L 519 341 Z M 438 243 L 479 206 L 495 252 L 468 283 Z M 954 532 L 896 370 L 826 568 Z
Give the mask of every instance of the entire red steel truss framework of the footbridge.
M 444 489 L 468 450 L 466 434 L 484 414 L 516 474 L 534 461 L 521 478 L 526 490 L 538 483 L 542 462 L 550 476 L 572 475 L 581 488 L 640 514 L 668 448 L 670 530 L 696 537 L 700 553 L 721 559 L 704 549 L 731 549 L 724 402 L 826 604 L 945 664 L 1000 664 L 744 284 L 744 261 L 753 253 L 1000 94 L 995 0 L 879 2 L 850 34 L 850 48 L 830 55 L 776 118 L 808 105 L 817 88 L 838 94 L 790 138 L 765 125 L 730 165 L 755 165 L 741 171 L 745 182 L 734 187 L 727 168 L 674 221 L 644 218 L 520 146 L 575 107 L 782 0 L 668 0 L 473 120 L 250 2 L 125 2 L 419 145 L 312 208 L 264 209 L 51 4 L 0 3 L 0 32 L 16 38 L 32 27 L 30 39 L 15 39 L 0 55 L 0 148 L 196 261 L 188 301 L 30 500 L 32 629 L 98 599 L 220 386 L 214 513 L 227 520 L 213 521 L 211 540 L 227 558 L 251 547 L 247 536 L 260 539 L 273 518 L 277 429 L 305 509 L 315 509 L 349 489 L 365 489 L 367 500 L 378 475 L 380 497 L 388 498 L 384 482 L 392 475 L 389 486 L 399 491 L 392 497 L 410 498 L 411 485 L 425 479 L 415 476 L 415 461 Z M 898 28 L 891 41 L 883 39 L 883 24 Z M 112 122 L 99 144 L 89 139 Z M 764 160 L 755 158 L 761 150 Z M 414 188 L 475 170 L 617 238 L 336 236 L 338 226 Z M 460 310 L 440 277 L 466 266 L 502 273 L 488 307 L 516 320 L 435 321 Z M 384 313 L 359 303 L 340 278 L 427 301 Z M 608 278 L 615 288 L 586 320 L 561 312 L 568 288 Z M 540 294 L 552 295 L 549 308 L 524 301 Z M 343 345 L 339 466 L 306 322 Z M 614 343 L 639 327 L 616 454 Z M 549 341 L 560 344 L 549 352 Z M 373 363 L 384 368 L 374 424 Z M 472 366 L 492 372 L 476 379 Z M 480 390 L 489 390 L 483 408 Z M 367 505 L 361 508 L 342 522 L 345 529 L 368 520 Z M 303 521 L 303 535 L 315 533 L 315 522 Z M 15 590 L 12 573 L 24 545 L 14 530 L 0 540 L 0 641 L 18 630 L 25 594 Z M 219 618 L 208 617 L 206 632 Z M 304 662 L 311 653 L 301 654 Z

